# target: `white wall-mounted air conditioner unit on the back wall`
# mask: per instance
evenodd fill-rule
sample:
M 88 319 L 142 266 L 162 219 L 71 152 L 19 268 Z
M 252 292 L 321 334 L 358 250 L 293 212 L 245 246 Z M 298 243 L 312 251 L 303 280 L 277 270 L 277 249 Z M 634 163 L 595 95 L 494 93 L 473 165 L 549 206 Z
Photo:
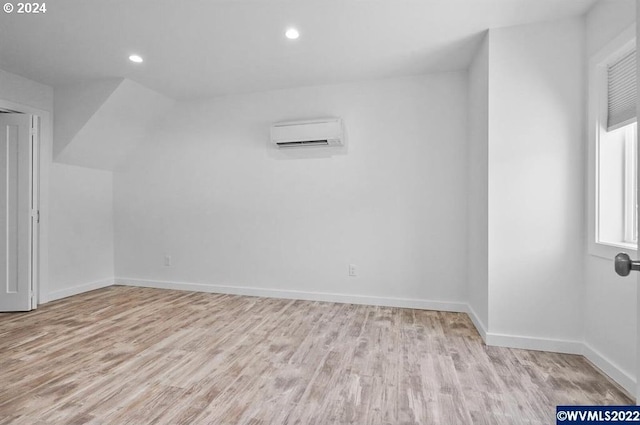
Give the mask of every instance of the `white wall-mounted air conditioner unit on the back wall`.
M 340 118 L 278 122 L 271 125 L 271 142 L 279 148 L 342 146 Z

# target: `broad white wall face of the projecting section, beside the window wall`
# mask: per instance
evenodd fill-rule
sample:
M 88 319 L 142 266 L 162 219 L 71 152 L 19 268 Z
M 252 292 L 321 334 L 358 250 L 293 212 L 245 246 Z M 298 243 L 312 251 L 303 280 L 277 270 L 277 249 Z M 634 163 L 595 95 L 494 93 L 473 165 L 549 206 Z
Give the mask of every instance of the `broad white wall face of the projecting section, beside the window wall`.
M 580 18 L 490 31 L 491 343 L 581 350 L 583 48 Z

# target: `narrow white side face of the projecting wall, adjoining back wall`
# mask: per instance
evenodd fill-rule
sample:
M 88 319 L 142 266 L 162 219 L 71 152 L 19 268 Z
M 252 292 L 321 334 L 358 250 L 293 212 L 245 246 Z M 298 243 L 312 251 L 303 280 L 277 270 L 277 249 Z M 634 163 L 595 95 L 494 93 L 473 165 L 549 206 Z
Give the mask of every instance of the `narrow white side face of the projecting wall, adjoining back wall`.
M 471 317 L 483 334 L 489 326 L 488 154 L 489 154 L 489 34 L 478 48 L 468 74 L 469 199 L 468 299 Z M 485 335 L 483 335 L 484 337 Z

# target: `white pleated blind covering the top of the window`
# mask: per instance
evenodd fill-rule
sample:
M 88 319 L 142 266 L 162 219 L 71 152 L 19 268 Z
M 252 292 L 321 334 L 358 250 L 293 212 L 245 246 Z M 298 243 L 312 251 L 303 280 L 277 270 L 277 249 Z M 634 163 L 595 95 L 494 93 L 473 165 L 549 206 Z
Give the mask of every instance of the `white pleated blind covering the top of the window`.
M 607 68 L 607 131 L 636 121 L 636 51 Z

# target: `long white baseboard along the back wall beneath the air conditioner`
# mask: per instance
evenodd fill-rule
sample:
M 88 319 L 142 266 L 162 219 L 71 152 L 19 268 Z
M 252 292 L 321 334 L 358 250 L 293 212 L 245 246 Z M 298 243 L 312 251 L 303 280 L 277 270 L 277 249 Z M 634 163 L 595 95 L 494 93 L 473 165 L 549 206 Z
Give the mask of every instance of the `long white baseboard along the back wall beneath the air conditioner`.
M 208 285 L 203 283 L 167 282 L 158 280 L 116 278 L 116 285 L 145 288 L 175 289 L 180 291 L 210 292 L 216 294 L 247 295 L 254 297 L 284 298 L 307 301 L 326 301 L 346 304 L 378 305 L 385 307 L 416 308 L 466 313 L 467 305 L 461 302 L 431 301 L 411 298 L 374 297 L 369 295 L 336 294 L 330 292 L 291 291 L 283 289 L 255 288 L 249 286 Z

